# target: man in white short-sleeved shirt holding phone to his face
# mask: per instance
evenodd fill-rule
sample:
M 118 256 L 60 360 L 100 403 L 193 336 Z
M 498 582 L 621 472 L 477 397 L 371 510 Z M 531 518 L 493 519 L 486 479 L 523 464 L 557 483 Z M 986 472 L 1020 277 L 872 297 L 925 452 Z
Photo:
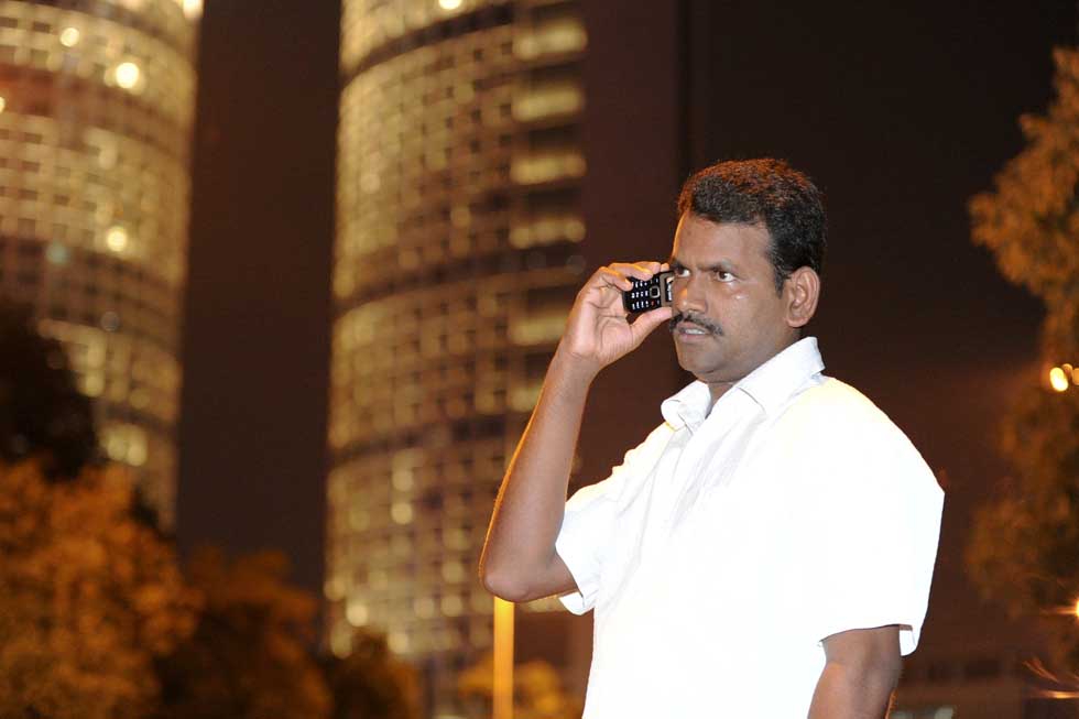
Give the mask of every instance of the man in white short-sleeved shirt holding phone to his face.
M 602 268 L 578 294 L 499 493 L 484 586 L 596 610 L 586 719 L 884 717 L 925 618 L 940 488 L 800 338 L 825 251 L 808 178 L 720 163 L 678 210 L 673 307 L 622 307 L 657 262 Z M 664 322 L 697 381 L 566 502 L 592 379 Z

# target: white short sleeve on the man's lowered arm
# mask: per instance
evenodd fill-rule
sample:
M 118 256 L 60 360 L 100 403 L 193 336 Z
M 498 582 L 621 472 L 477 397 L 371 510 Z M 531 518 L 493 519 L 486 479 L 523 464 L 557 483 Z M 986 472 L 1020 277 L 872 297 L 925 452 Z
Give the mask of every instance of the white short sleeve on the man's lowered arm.
M 807 527 L 807 628 L 822 641 L 897 624 L 906 655 L 918 644 L 928 607 L 944 492 L 890 422 L 848 434 L 841 444 L 820 464 Z

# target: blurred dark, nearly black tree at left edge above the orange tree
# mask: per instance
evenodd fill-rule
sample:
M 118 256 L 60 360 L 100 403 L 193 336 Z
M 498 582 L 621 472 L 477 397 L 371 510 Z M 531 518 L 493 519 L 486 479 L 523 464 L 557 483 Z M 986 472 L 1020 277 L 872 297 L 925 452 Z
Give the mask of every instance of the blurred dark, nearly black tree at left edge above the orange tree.
M 50 479 L 72 478 L 97 455 L 90 401 L 59 342 L 31 313 L 0 301 L 0 460 L 40 458 Z

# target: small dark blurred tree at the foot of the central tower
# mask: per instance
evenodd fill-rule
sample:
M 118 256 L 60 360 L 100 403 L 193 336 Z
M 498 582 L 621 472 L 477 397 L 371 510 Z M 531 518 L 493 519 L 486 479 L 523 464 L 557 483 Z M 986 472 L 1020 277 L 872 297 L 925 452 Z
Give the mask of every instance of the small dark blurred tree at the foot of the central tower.
M 385 636 L 358 631 L 352 653 L 328 658 L 325 671 L 334 719 L 419 719 L 415 672 L 390 652 Z

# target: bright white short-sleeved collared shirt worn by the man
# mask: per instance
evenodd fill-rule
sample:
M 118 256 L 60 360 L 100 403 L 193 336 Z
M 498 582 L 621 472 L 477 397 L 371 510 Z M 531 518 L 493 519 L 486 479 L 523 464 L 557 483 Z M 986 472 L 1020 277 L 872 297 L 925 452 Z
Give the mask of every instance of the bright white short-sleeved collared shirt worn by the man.
M 694 382 L 556 549 L 596 610 L 585 719 L 803 719 L 821 640 L 925 619 L 944 493 L 906 436 L 805 338 L 709 412 Z

